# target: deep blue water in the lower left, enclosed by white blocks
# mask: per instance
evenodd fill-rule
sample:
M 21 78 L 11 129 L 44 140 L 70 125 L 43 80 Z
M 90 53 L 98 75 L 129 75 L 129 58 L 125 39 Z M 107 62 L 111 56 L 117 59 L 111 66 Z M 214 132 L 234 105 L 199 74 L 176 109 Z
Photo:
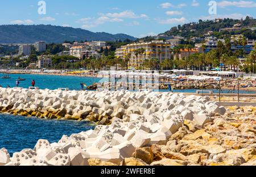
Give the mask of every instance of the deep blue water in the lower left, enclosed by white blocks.
M 33 149 L 39 139 L 57 142 L 66 134 L 80 133 L 94 126 L 86 121 L 46 120 L 13 115 L 0 115 L 0 149 L 5 147 L 10 155 L 25 148 Z

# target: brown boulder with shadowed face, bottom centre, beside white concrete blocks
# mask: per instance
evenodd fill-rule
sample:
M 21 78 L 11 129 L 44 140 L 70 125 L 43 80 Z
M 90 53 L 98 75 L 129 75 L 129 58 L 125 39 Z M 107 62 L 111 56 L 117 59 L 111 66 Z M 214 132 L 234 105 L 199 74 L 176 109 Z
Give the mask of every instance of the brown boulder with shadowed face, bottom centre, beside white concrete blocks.
M 142 161 L 150 164 L 153 162 L 154 154 L 150 147 L 137 147 L 132 157 L 141 159 Z

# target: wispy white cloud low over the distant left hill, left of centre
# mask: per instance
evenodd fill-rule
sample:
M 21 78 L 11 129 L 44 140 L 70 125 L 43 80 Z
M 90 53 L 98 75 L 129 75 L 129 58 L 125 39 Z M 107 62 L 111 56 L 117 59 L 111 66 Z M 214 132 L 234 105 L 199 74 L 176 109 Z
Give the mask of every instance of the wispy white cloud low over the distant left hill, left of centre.
M 108 16 L 100 16 L 97 19 L 82 18 L 77 20 L 77 23 L 82 23 L 82 28 L 94 28 L 106 22 L 123 22 L 123 20 L 119 18 L 109 18 Z

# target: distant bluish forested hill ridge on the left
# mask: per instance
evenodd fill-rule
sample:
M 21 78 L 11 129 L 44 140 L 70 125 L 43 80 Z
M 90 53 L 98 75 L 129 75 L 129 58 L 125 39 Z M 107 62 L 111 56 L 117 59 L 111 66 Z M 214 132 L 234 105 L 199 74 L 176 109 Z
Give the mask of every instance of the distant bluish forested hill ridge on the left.
M 84 40 L 136 40 L 123 33 L 112 35 L 106 32 L 91 32 L 81 28 L 60 27 L 51 25 L 1 25 L 0 43 L 35 43 L 43 40 L 46 43 L 63 43 L 64 41 Z

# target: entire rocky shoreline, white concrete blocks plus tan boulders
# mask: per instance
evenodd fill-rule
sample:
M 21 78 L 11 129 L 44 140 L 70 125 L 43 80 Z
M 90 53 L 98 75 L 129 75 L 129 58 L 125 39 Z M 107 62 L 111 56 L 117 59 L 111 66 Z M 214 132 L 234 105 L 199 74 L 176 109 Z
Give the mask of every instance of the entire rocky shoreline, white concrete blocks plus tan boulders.
M 91 120 L 94 130 L 63 136 L 0 165 L 255 165 L 255 107 L 230 107 L 200 96 L 151 91 L 0 88 L 1 112 Z

